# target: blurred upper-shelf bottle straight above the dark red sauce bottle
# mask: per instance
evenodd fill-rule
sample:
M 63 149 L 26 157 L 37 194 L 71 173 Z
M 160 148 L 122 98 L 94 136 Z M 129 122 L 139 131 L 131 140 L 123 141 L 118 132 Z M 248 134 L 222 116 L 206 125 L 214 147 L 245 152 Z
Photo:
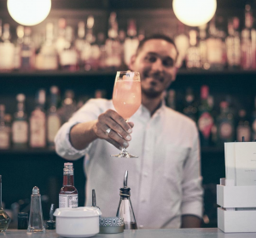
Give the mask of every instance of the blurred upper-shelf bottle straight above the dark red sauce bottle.
M 66 28 L 66 45 L 60 53 L 61 69 L 67 71 L 76 71 L 78 69 L 78 54 L 73 42 L 73 28 Z

